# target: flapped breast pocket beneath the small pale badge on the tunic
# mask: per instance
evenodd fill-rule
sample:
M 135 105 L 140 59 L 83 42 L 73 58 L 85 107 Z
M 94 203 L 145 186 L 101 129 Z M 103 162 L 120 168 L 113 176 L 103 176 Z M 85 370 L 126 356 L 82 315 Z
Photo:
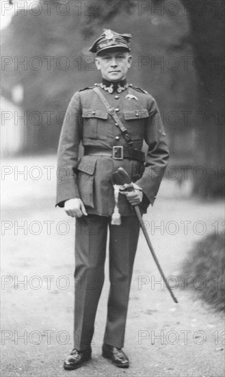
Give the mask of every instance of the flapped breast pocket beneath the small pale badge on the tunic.
M 133 140 L 140 140 L 144 138 L 144 126 L 146 119 L 148 119 L 148 110 L 145 108 L 127 109 L 123 111 L 126 126 Z

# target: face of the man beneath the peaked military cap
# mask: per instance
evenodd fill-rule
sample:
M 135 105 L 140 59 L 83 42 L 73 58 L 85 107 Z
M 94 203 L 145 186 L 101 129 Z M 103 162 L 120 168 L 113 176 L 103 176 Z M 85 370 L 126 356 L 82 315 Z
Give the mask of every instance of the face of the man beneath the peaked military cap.
M 126 49 L 107 49 L 96 57 L 96 67 L 104 79 L 119 82 L 127 75 L 132 57 Z

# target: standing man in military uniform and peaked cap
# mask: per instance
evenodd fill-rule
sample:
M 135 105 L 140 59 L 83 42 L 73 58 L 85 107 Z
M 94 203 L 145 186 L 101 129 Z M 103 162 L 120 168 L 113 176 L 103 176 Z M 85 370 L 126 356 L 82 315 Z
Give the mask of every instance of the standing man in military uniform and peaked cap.
M 155 99 L 127 83 L 131 66 L 130 34 L 104 30 L 90 51 L 96 53 L 101 84 L 72 97 L 59 140 L 57 206 L 76 217 L 74 349 L 64 361 L 76 369 L 91 358 L 94 319 L 104 281 L 109 229 L 109 300 L 103 356 L 117 367 L 129 367 L 123 352 L 133 262 L 142 213 L 153 205 L 168 147 Z M 118 121 L 115 121 L 115 114 Z M 69 121 L 68 121 L 69 119 Z M 122 125 L 121 125 L 122 123 Z M 143 141 L 148 145 L 144 162 Z M 84 155 L 79 159 L 79 144 Z M 115 195 L 112 174 L 124 168 L 134 191 L 118 195 L 120 225 L 111 222 Z

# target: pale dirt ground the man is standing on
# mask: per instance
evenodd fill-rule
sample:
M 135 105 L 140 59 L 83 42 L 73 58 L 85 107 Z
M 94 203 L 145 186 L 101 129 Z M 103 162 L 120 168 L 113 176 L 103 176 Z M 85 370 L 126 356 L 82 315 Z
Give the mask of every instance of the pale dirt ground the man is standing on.
M 92 361 L 66 372 L 64 356 L 72 349 L 75 223 L 54 208 L 54 157 L 6 160 L 3 166 L 2 377 L 224 376 L 224 317 L 181 289 L 187 278 L 181 278 L 181 264 L 191 245 L 205 234 L 222 232 L 222 202 L 174 198 L 171 183 L 163 182 L 144 221 L 178 304 L 163 287 L 142 234 L 124 348 L 131 367 L 116 368 L 101 356 L 106 265 Z

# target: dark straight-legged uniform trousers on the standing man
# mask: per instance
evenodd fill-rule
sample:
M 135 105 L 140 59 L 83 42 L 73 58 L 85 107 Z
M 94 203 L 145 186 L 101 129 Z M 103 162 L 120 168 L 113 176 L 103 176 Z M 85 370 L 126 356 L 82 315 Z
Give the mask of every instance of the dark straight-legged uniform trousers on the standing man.
M 104 342 L 124 346 L 133 262 L 140 224 L 135 215 L 122 216 L 121 225 L 111 217 L 88 215 L 76 220 L 74 347 L 88 350 L 105 278 L 105 254 L 109 229 L 109 298 Z

